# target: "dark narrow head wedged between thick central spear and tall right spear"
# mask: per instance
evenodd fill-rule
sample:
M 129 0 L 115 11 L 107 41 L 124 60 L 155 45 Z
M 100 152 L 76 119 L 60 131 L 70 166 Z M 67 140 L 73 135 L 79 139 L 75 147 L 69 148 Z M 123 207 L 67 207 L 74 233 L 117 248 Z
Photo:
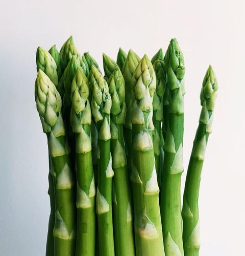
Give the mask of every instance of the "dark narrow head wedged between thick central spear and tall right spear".
M 160 58 L 156 59 L 153 67 L 156 74 L 156 91 L 153 97 L 153 111 L 157 111 L 156 120 L 161 121 L 163 119 L 162 100 L 166 90 L 166 73 L 163 60 Z

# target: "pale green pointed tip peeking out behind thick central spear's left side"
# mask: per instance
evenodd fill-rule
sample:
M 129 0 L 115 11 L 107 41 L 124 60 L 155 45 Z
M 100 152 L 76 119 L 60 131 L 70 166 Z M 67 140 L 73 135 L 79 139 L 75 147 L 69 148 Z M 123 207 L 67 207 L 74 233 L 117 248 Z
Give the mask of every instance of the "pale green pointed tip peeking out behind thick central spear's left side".
M 122 74 L 124 75 L 126 86 L 127 84 L 131 84 L 133 73 L 139 61 L 140 61 L 139 56 L 134 51 L 129 50 L 129 53 L 124 63 L 124 68 L 122 70 Z

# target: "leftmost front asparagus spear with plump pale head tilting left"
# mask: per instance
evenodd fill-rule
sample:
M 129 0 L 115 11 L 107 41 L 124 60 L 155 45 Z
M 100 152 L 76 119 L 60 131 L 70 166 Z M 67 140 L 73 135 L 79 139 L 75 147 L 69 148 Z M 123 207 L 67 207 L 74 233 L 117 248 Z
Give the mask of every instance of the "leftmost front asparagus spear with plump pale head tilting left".
M 70 170 L 69 146 L 61 114 L 60 95 L 45 73 L 38 71 L 35 99 L 43 132 L 48 139 L 55 187 L 54 255 L 75 255 L 75 200 L 74 178 Z

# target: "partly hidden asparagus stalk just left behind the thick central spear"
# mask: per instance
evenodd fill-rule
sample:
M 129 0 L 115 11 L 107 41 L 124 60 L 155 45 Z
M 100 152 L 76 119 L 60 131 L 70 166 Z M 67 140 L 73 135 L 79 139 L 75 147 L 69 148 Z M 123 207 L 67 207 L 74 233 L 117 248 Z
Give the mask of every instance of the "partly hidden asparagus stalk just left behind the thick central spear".
M 131 79 L 135 68 L 139 63 L 139 56 L 129 50 L 127 58 L 125 60 L 124 69 L 122 70 L 122 75 L 124 76 L 125 80 L 125 103 L 126 103 L 126 119 L 124 124 L 124 138 L 126 143 L 126 155 L 127 155 L 127 162 L 128 162 L 128 172 L 129 176 L 131 175 L 131 148 L 132 148 L 132 115 L 131 115 Z

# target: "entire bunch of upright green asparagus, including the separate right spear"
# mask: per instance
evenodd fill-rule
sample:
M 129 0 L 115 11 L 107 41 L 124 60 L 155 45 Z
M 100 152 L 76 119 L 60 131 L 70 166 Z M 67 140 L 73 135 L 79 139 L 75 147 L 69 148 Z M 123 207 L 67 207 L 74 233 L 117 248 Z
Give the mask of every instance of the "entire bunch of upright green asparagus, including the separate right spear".
M 70 37 L 38 47 L 35 100 L 48 144 L 47 256 L 199 255 L 199 186 L 217 81 L 209 66 L 183 206 L 182 51 L 95 59 Z

